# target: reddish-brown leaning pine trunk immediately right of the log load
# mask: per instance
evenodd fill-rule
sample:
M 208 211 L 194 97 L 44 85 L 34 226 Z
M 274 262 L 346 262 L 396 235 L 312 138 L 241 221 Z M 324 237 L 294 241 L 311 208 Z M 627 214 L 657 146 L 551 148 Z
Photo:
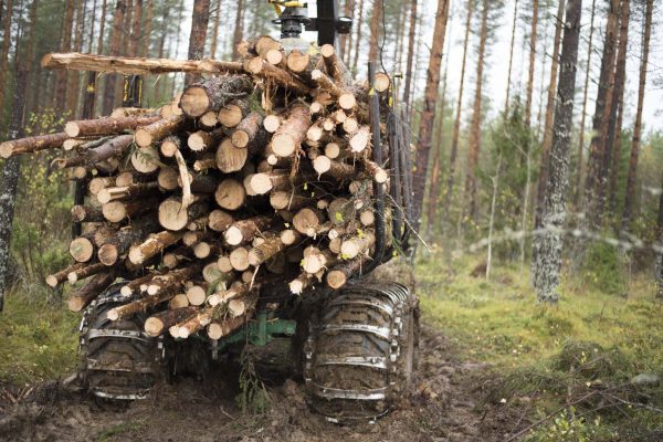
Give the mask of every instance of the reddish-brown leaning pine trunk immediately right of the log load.
M 417 171 L 413 177 L 414 191 L 414 219 L 418 230 L 425 192 L 427 173 L 429 169 L 429 156 L 433 138 L 433 122 L 435 119 L 435 104 L 440 91 L 440 69 L 442 67 L 442 50 L 444 49 L 444 34 L 446 32 L 446 19 L 449 18 L 449 1 L 438 0 L 438 12 L 435 13 L 435 28 L 433 31 L 433 46 L 429 60 L 425 91 L 423 95 L 423 112 L 419 125 L 419 146 L 417 148 Z

